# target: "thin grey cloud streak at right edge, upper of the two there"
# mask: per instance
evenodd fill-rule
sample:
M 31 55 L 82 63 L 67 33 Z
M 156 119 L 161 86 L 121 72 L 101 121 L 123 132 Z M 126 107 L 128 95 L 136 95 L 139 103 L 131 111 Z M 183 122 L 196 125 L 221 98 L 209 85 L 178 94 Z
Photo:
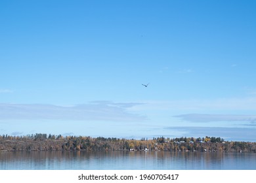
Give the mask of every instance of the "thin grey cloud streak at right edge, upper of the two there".
M 182 114 L 174 117 L 188 122 L 256 122 L 256 115 Z

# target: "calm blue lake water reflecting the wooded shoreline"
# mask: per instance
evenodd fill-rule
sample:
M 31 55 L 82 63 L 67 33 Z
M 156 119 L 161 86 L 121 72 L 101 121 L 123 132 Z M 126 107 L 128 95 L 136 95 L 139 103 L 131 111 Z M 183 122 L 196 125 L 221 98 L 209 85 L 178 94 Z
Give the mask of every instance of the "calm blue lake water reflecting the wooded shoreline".
M 256 170 L 256 153 L 2 152 L 1 170 Z

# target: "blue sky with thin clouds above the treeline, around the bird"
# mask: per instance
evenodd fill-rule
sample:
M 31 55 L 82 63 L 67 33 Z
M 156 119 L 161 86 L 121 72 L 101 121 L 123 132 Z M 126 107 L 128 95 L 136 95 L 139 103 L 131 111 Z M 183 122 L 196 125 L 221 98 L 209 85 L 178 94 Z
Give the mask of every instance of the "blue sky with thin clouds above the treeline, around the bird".
M 0 134 L 256 141 L 255 7 L 1 1 Z

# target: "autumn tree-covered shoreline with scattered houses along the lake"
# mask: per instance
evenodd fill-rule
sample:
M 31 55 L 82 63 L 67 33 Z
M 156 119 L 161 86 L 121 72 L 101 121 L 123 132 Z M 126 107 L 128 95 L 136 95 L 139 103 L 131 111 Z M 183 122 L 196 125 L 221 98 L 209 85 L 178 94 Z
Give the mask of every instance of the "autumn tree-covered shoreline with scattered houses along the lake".
M 256 152 L 256 142 L 224 141 L 221 137 L 117 139 L 36 133 L 26 136 L 0 135 L 0 152 L 18 151 L 170 151 Z

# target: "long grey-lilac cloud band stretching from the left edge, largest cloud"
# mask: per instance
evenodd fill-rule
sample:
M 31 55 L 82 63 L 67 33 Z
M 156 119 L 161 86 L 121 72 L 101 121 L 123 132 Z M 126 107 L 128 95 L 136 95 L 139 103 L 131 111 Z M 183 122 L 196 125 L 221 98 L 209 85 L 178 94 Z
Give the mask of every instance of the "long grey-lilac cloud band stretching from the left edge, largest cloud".
M 127 108 L 139 103 L 98 101 L 63 107 L 40 104 L 0 104 L 0 120 L 145 120 L 146 116 L 131 113 Z

